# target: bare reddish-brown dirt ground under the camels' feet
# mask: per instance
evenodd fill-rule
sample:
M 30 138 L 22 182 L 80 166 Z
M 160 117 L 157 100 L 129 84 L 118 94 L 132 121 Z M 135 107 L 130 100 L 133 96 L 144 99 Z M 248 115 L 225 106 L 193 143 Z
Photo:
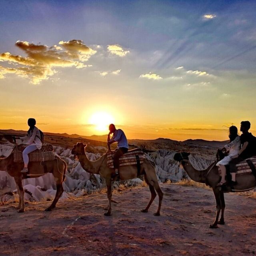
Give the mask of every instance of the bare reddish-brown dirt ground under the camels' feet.
M 223 255 L 256 254 L 256 200 L 226 194 L 225 225 L 210 229 L 215 217 L 211 190 L 161 184 L 161 216 L 140 210 L 150 198 L 148 187 L 116 192 L 112 216 L 104 216 L 105 194 L 28 203 L 17 213 L 14 204 L 0 207 L 1 256 L 78 255 Z

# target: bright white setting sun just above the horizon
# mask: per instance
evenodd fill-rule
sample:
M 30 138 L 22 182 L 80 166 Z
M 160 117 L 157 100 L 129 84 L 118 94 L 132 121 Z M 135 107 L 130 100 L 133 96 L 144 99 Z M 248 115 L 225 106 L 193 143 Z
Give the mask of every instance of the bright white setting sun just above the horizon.
M 98 132 L 107 132 L 108 126 L 114 123 L 114 118 L 106 112 L 96 112 L 89 118 L 89 124 L 94 125 L 94 129 Z

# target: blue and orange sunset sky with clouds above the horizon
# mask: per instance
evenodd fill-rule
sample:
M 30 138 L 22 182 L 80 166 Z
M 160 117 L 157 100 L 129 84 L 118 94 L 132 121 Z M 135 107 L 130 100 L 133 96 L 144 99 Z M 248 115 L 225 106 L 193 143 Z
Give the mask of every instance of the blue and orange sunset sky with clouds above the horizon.
M 0 129 L 256 134 L 256 1 L 1 0 Z

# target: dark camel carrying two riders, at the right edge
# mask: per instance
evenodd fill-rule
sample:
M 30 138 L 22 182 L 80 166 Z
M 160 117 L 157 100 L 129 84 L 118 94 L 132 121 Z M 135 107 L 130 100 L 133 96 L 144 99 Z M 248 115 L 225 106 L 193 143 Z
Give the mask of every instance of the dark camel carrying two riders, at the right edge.
M 218 167 L 215 165 L 216 162 L 210 164 L 208 168 L 205 170 L 196 170 L 189 162 L 188 156 L 190 155 L 189 152 L 181 152 L 176 153 L 174 155 L 174 160 L 180 162 L 187 172 L 188 176 L 200 183 L 205 183 L 212 188 L 212 191 L 215 196 L 216 200 L 216 218 L 213 224 L 210 225 L 210 228 L 217 228 L 218 224 L 224 225 L 224 209 L 225 209 L 225 200 L 224 200 L 224 193 L 228 192 L 244 192 L 251 190 L 256 187 L 256 179 L 253 174 L 245 174 L 242 176 L 237 176 L 237 185 L 234 188 L 227 187 L 227 190 L 223 190 L 216 185 L 220 182 L 220 175 L 218 172 Z M 221 217 L 220 220 L 220 210 L 221 210 Z

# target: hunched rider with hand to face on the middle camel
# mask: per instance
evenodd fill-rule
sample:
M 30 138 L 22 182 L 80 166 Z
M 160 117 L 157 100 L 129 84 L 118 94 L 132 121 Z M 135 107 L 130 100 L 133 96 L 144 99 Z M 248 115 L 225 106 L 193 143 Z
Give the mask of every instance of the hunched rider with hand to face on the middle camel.
M 110 134 L 113 134 L 111 139 Z M 108 146 L 110 146 L 110 144 L 114 142 L 117 142 L 116 152 L 113 157 L 114 169 L 117 176 L 119 168 L 119 158 L 128 151 L 129 146 L 124 132 L 121 129 L 116 129 L 116 126 L 114 126 L 114 124 L 110 124 L 108 133 Z

